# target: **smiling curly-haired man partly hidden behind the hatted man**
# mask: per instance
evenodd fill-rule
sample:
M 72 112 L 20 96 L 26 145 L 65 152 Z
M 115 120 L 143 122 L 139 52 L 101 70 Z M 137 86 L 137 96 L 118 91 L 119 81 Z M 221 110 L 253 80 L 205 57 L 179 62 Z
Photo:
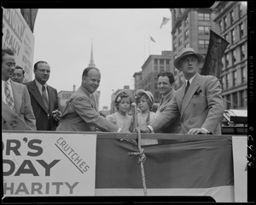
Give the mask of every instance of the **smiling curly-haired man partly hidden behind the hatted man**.
M 160 99 L 160 105 L 157 107 L 156 114 L 160 115 L 161 112 L 165 111 L 167 106 L 171 103 L 176 91 L 173 88 L 174 76 L 172 72 L 160 72 L 158 75 L 158 89 L 162 95 Z M 180 117 L 177 117 L 177 120 L 173 122 L 171 126 L 166 124 L 166 128 L 161 128 L 160 130 L 163 133 L 177 134 L 180 133 Z

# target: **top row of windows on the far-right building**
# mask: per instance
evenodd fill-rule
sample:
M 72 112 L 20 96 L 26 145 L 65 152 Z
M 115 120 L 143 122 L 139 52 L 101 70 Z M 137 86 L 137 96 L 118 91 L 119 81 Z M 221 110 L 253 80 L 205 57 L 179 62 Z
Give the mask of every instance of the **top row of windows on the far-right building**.
M 219 21 L 220 31 L 224 31 L 227 27 L 232 26 L 236 20 L 241 19 L 242 14 L 242 5 L 239 4 L 236 8 L 230 11 L 229 14 L 224 16 L 223 20 Z

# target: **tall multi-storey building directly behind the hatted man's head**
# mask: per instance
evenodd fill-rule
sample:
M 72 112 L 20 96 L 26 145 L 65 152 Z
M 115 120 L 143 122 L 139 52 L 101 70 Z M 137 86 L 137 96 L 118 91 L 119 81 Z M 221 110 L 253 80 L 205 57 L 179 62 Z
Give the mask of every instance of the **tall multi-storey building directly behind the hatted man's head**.
M 213 23 L 215 14 L 212 9 L 170 9 L 172 13 L 172 50 L 173 58 L 180 49 L 191 47 L 195 53 L 207 54 L 210 31 L 216 31 Z M 201 62 L 200 69 L 203 62 Z M 183 85 L 183 72 L 173 67 L 175 77 L 174 88 Z M 200 71 L 201 72 L 201 71 Z

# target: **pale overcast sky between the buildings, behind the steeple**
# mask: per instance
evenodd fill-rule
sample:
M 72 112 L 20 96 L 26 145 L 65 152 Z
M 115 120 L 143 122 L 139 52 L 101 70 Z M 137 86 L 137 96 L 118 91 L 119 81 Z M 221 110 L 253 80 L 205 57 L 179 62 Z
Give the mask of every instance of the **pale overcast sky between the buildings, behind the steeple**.
M 172 50 L 172 19 L 160 28 L 163 17 L 171 19 L 170 9 L 38 9 L 33 61 L 49 63 L 47 83 L 58 92 L 73 91 L 93 44 L 102 75 L 99 110 L 109 109 L 113 92 L 125 85 L 134 89 L 133 74 L 142 71 L 149 54 Z

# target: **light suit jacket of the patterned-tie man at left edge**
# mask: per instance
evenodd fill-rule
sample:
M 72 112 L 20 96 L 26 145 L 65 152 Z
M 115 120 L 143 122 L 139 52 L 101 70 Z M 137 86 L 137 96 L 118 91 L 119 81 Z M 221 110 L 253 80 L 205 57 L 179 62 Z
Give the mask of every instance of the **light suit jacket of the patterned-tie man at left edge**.
M 32 130 L 36 130 L 36 117 L 32 111 L 31 99 L 26 86 L 15 83 L 12 80 L 10 83 L 14 95 L 16 114 L 26 122 Z

